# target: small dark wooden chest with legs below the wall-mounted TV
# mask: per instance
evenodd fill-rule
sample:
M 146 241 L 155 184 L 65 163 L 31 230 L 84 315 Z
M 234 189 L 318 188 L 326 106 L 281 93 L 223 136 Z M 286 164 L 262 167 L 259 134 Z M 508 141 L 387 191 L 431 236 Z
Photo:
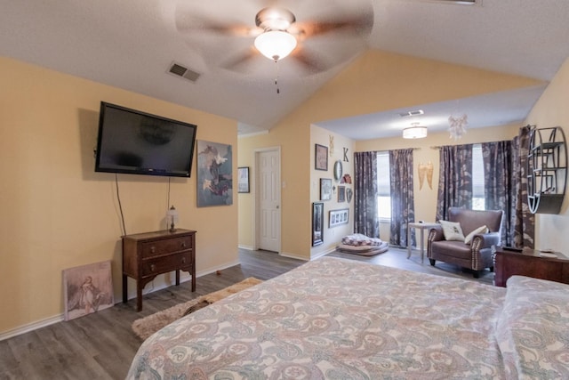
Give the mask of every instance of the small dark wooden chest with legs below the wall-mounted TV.
M 128 297 L 127 278 L 136 279 L 136 310 L 142 310 L 142 289 L 157 275 L 176 271 L 176 285 L 180 285 L 180 271 L 188 271 L 192 292 L 196 291 L 196 231 L 159 230 L 123 237 L 123 302 Z

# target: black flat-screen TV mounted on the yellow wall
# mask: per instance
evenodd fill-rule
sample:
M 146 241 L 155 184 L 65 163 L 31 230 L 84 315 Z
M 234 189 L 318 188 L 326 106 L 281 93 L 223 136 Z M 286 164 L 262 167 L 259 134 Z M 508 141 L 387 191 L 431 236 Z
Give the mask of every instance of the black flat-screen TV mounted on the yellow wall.
M 197 126 L 100 102 L 95 172 L 189 177 Z

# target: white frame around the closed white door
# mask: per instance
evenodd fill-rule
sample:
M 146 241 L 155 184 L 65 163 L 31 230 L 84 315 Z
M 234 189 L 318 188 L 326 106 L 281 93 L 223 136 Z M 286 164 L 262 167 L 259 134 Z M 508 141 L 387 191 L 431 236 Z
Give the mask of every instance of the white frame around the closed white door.
M 261 218 L 259 217 L 259 213 L 260 213 L 260 189 L 259 189 L 259 182 L 257 181 L 257 178 L 259 178 L 259 156 L 260 153 L 265 153 L 265 152 L 269 152 L 269 151 L 276 151 L 277 155 L 278 155 L 278 178 L 277 178 L 277 183 L 279 186 L 281 186 L 280 190 L 278 191 L 278 206 L 279 206 L 279 213 L 278 213 L 278 225 L 279 225 L 279 230 L 278 230 L 278 250 L 277 253 L 280 255 L 282 252 L 282 236 L 283 236 L 283 207 L 282 207 L 282 200 L 283 200 L 283 193 L 282 193 L 282 163 L 281 163 L 281 147 L 280 146 L 276 146 L 276 147 L 267 147 L 267 148 L 259 148 L 256 150 L 253 150 L 253 154 L 254 154 L 254 170 L 252 170 L 253 174 L 252 174 L 252 178 L 250 178 L 251 182 L 252 182 L 252 189 L 254 189 L 254 200 L 253 200 L 253 207 L 254 207 L 254 211 L 252 213 L 252 217 L 253 217 L 253 223 L 254 223 L 254 228 L 252 230 L 253 233 L 253 241 L 254 241 L 254 247 L 253 249 L 258 250 L 260 247 L 260 243 L 259 243 L 259 237 L 260 237 L 260 220 Z

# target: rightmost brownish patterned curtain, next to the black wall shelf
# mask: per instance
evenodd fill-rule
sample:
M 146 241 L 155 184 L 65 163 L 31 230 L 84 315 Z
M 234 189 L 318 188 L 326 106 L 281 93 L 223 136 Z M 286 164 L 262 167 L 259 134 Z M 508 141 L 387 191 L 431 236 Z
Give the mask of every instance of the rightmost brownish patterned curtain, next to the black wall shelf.
M 512 202 L 510 211 L 509 244 L 514 247 L 533 248 L 535 216 L 527 204 L 527 153 L 532 127 L 520 128 L 512 140 Z

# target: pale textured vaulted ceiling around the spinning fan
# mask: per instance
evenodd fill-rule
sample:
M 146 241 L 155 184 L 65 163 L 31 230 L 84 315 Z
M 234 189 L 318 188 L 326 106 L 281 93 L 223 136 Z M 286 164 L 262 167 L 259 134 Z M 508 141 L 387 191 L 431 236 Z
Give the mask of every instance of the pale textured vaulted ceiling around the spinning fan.
M 478 5 L 428 0 L 79 0 L 2 1 L 0 52 L 4 56 L 114 85 L 239 122 L 240 133 L 266 130 L 293 111 L 365 48 L 403 53 L 548 81 L 569 56 L 566 0 L 483 0 Z M 276 65 L 252 55 L 254 27 L 263 6 L 284 6 L 297 20 L 349 19 L 373 12 L 365 38 L 315 36 L 301 43 L 305 61 Z M 222 33 L 223 32 L 223 33 Z M 253 52 L 254 53 L 254 52 Z M 290 58 L 290 57 L 289 57 Z M 172 61 L 195 70 L 195 83 L 167 74 Z M 245 64 L 243 64 L 243 62 Z M 307 64 L 307 62 L 309 64 Z M 278 67 L 277 67 L 278 66 Z M 279 78 L 280 93 L 274 80 Z M 472 126 L 522 120 L 543 87 L 461 100 L 493 119 Z M 448 117 L 453 105 L 421 104 Z M 395 116 L 394 116 L 395 115 Z M 373 117 L 377 117 L 374 119 Z M 359 117 L 361 128 L 396 122 L 397 110 Z M 352 137 L 358 130 L 354 120 Z M 349 135 L 340 121 L 322 125 Z M 481 125 L 484 126 L 484 125 Z M 383 134 L 381 134 L 383 133 Z M 386 128 L 378 135 L 390 135 Z

